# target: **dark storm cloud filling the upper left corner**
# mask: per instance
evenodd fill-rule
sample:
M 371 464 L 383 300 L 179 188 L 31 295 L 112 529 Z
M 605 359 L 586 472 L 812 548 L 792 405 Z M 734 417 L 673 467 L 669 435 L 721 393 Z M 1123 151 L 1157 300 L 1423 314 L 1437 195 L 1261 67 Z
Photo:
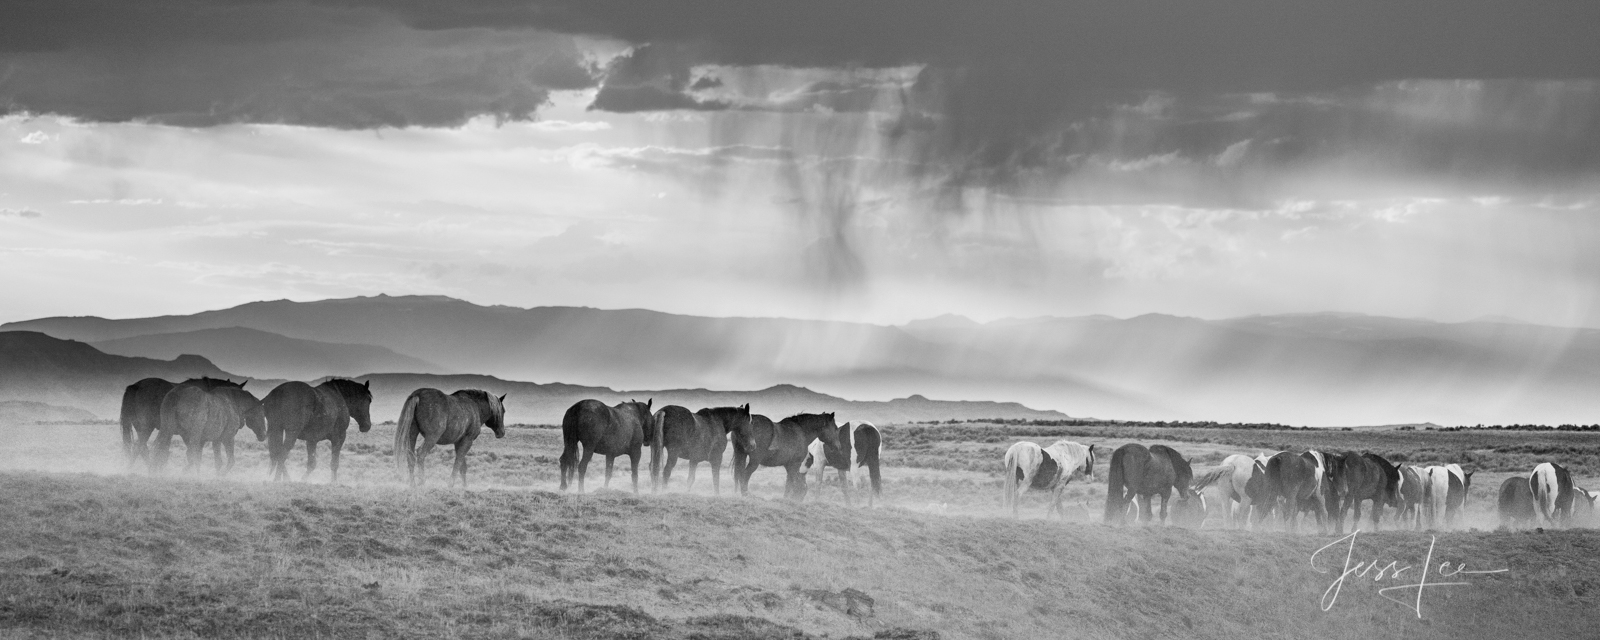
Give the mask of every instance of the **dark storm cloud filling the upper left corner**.
M 550 91 L 595 85 L 570 35 L 306 3 L 13 3 L 0 51 L 0 112 L 186 126 L 526 120 Z

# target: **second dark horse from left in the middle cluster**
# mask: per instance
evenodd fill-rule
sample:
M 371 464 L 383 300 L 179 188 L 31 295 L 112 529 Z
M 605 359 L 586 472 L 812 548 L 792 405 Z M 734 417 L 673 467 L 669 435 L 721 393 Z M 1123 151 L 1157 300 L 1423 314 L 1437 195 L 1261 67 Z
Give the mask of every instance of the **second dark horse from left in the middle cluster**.
M 662 406 L 651 422 L 650 485 L 662 491 L 672 480 L 672 467 L 683 458 L 690 462 L 688 491 L 694 486 L 694 470 L 710 462 L 710 486 L 722 494 L 722 454 L 728 450 L 728 434 L 750 421 L 750 405 L 704 408 L 694 413 L 678 405 Z M 662 456 L 662 453 L 666 453 Z M 666 467 L 662 467 L 666 458 Z

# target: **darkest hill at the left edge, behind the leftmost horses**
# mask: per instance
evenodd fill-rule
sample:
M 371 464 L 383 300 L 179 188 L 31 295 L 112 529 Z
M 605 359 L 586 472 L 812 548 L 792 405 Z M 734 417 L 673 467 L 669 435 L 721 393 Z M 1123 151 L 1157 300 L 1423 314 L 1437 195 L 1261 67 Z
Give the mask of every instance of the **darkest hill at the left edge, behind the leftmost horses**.
M 0 400 L 82 406 L 117 418 L 122 392 L 142 378 L 243 378 L 198 355 L 173 360 L 104 354 L 93 346 L 37 331 L 0 331 Z M 254 390 L 254 389 L 251 389 Z

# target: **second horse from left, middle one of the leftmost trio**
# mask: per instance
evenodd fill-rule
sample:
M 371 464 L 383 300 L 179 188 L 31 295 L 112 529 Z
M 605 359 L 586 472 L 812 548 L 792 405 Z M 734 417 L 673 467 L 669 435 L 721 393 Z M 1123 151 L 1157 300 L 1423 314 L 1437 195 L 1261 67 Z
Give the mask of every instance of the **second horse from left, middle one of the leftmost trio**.
M 155 453 L 149 459 L 150 474 L 166 467 L 173 437 L 179 437 L 187 450 L 189 464 L 184 472 L 200 464 L 205 445 L 211 445 L 216 474 L 234 469 L 234 434 L 250 427 L 258 440 L 266 440 L 266 418 L 261 402 L 240 387 L 219 386 L 203 390 L 198 384 L 179 384 L 162 398 L 162 426 L 155 437 Z M 222 445 L 227 445 L 227 467 L 222 466 Z

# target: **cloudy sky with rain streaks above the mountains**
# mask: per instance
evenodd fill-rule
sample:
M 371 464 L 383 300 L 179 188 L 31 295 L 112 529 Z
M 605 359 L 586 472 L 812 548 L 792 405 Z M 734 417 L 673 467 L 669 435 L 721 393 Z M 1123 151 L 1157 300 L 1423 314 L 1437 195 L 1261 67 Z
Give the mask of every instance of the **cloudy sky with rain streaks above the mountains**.
M 1600 3 L 0 3 L 0 322 L 1600 326 Z

